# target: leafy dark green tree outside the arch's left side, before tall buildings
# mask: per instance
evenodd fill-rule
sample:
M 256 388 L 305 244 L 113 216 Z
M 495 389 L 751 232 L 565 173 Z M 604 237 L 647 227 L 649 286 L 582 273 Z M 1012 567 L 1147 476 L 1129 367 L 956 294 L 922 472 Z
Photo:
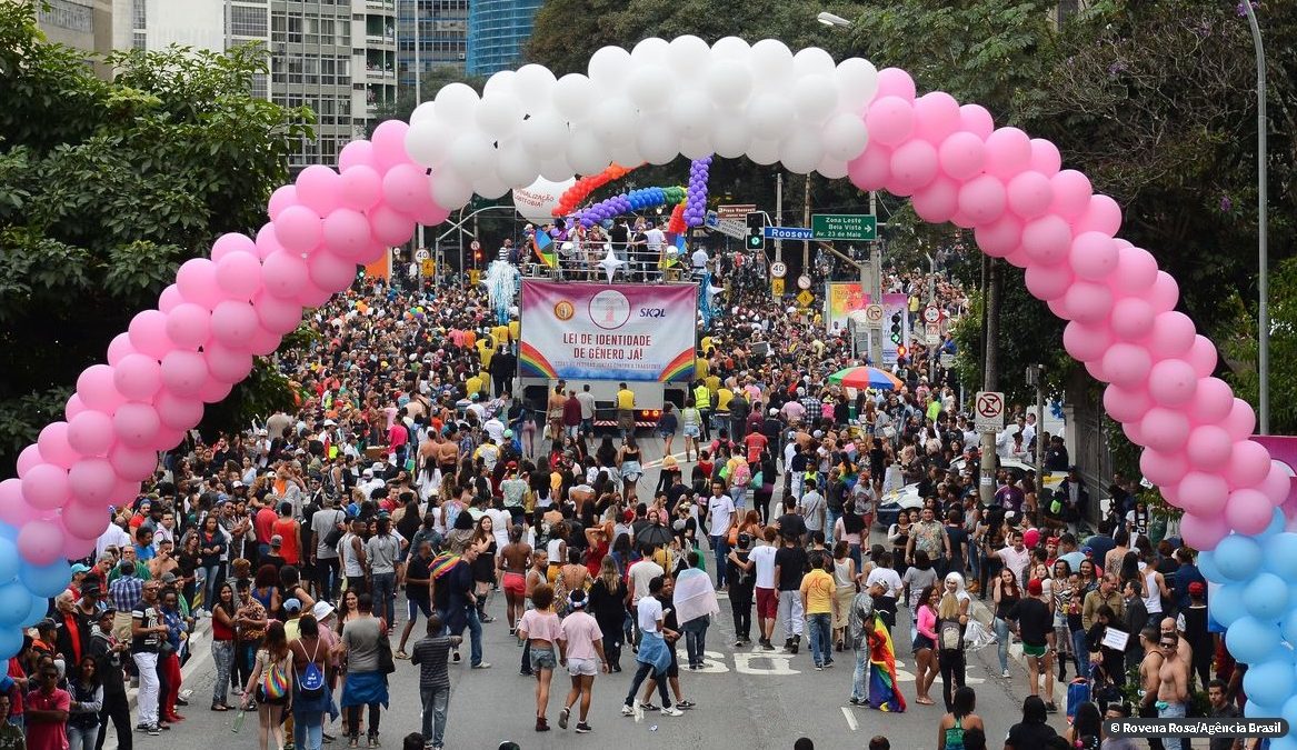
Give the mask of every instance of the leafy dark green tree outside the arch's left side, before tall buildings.
M 265 222 L 313 138 L 310 110 L 249 95 L 265 51 L 115 52 L 105 82 L 34 13 L 0 3 L 0 462 L 61 418 L 78 372 L 179 263 Z

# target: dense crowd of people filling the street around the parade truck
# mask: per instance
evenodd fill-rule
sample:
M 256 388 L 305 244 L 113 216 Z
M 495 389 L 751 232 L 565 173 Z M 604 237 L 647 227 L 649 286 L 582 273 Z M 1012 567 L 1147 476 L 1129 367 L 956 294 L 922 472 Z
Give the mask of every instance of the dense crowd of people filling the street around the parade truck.
M 887 284 L 918 297 L 927 280 Z M 938 288 L 947 309 L 965 304 L 944 278 Z M 376 747 L 388 676 L 405 659 L 419 670 L 422 742 L 440 749 L 450 666 L 467 650 L 470 670 L 492 668 L 482 632 L 501 594 L 497 627 L 536 680 L 537 732 L 551 718 L 591 732 L 599 675 L 624 667 L 624 715 L 685 715 L 678 641 L 687 671 L 706 668 L 722 598 L 735 649 L 804 646 L 816 671 L 843 659 L 850 706 L 910 707 L 896 655 L 913 654 L 913 703 L 935 705 L 942 679 L 943 749 L 984 742 L 964 673 L 969 647 L 992 640 L 1004 677 L 1013 640 L 1027 662 L 1030 696 L 1006 747 L 1051 746 L 1047 715 L 1069 666 L 1082 679 L 1071 746 L 1132 746 L 1105 740 L 1099 718 L 1183 716 L 1195 684 L 1213 715 L 1244 699 L 1243 667 L 1209 632 L 1192 553 L 1161 538 L 1136 488 L 1118 478 L 1108 518 L 1086 536 L 1093 509 L 1077 471 L 1053 489 L 1001 471 L 984 502 L 973 431 L 944 374 L 929 381 L 922 346 L 892 367 L 904 388 L 853 393 L 827 379 L 856 362 L 844 335 L 764 284 L 733 287 L 700 333 L 689 398 L 654 428 L 667 452 L 647 487 L 633 424 L 620 441 L 595 435 L 588 398 L 562 381 L 545 405 L 515 397 L 518 321 L 498 322 L 477 289 L 362 280 L 309 324 L 314 343 L 275 358 L 296 410 L 192 436 L 114 510 L 96 557 L 10 660 L 0 711 L 19 732 L 0 731 L 0 750 L 22 731 L 35 747 L 97 750 L 110 723 L 130 750 L 135 732 L 179 727 L 180 667 L 200 627 L 217 672 L 202 702 L 256 710 L 262 750 Z M 1030 415 L 997 454 L 1038 440 L 1047 468 L 1070 468 Z M 922 507 L 872 544 L 881 500 L 912 483 Z M 559 670 L 569 680 L 554 711 Z

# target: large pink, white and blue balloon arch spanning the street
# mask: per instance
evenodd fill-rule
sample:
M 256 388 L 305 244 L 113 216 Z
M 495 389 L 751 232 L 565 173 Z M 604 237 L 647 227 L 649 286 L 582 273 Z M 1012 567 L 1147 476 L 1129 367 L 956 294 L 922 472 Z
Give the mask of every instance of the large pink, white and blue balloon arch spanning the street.
M 1211 614 L 1250 668 L 1249 715 L 1297 719 L 1297 533 L 1289 479 L 1249 440 L 1252 407 L 1211 376 L 1215 349 L 1175 311 L 1179 289 L 1144 249 L 1115 237 L 1122 213 L 1058 149 L 995 127 L 975 104 L 896 69 L 834 62 L 817 48 L 726 38 L 646 39 L 599 49 L 589 75 L 527 65 L 479 96 L 462 83 L 311 166 L 270 200 L 256 239 L 224 235 L 185 262 L 88 367 L 66 405 L 0 483 L 0 655 L 66 585 L 66 558 L 93 550 L 109 506 L 131 502 L 157 452 L 182 441 L 305 308 L 345 289 L 355 267 L 436 224 L 473 193 L 616 162 L 746 156 L 912 196 L 929 222 L 974 230 L 988 256 L 1026 269 L 1060 318 L 1067 353 L 1108 383 L 1104 407 L 1144 446 L 1140 467 L 1184 509 L 1185 544 L 1213 587 Z M 1285 745 L 1287 744 L 1287 745 Z M 1274 747 L 1297 747 L 1279 740 Z

